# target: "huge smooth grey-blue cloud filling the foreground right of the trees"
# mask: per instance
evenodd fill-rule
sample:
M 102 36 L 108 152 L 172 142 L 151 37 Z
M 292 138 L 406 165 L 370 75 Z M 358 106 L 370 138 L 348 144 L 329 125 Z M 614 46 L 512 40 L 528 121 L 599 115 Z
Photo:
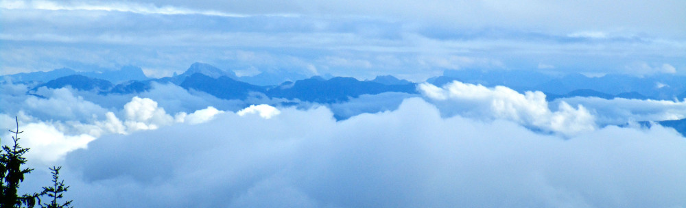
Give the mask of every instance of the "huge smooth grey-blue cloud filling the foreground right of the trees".
M 108 135 L 64 175 L 82 207 L 679 207 L 685 157 L 659 126 L 565 139 L 414 98 L 339 122 L 285 108 Z

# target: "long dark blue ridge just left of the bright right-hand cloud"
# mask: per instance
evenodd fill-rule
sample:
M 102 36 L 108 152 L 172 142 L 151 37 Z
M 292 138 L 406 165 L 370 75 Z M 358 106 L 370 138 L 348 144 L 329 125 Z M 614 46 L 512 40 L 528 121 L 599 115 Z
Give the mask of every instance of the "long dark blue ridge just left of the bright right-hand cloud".
M 300 99 L 300 101 L 336 103 L 362 94 L 381 92 L 417 93 L 414 83 L 385 85 L 374 81 L 359 81 L 352 77 L 333 77 L 328 80 L 322 77 L 311 77 L 283 83 L 281 86 L 268 90 L 267 95 L 276 98 Z

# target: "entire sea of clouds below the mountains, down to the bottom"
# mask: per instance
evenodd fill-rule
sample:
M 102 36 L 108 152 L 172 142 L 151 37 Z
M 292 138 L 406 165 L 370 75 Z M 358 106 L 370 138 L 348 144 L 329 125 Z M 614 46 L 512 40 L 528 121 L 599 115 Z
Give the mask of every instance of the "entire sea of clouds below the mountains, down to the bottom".
M 616 126 L 683 118 L 679 101 L 547 102 L 458 81 L 290 107 L 172 85 L 28 88 L 5 82 L 0 95 L 1 127 L 17 116 L 32 148 L 25 190 L 63 166 L 79 207 L 686 206 L 686 139 Z

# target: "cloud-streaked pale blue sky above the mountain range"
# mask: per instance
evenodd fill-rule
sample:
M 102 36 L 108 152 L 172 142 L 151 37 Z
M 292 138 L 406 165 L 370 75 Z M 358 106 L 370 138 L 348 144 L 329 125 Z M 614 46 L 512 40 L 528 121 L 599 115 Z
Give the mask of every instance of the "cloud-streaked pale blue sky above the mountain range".
M 0 74 L 686 73 L 685 1 L 0 1 Z

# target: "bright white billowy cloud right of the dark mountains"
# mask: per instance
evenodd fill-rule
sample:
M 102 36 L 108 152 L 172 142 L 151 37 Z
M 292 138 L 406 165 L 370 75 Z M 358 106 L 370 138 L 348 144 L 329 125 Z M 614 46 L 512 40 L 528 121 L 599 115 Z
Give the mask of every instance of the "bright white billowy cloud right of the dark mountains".
M 486 88 L 453 81 L 442 88 L 422 83 L 418 90 L 436 103 L 446 116 L 476 119 L 505 119 L 545 131 L 574 135 L 595 129 L 595 117 L 582 105 L 576 108 L 561 101 L 552 111 L 543 92 L 520 94 L 504 86 Z

